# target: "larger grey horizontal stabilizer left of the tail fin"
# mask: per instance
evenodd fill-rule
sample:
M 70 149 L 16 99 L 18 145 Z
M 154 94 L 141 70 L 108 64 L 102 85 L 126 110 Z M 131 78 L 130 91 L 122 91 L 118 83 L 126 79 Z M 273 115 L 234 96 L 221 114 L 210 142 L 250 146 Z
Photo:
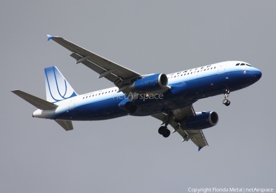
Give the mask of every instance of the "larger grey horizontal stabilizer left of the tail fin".
M 33 106 L 40 110 L 51 110 L 58 107 L 58 105 L 53 104 L 52 102 L 48 102 L 46 100 L 43 100 L 41 98 L 35 97 L 33 95 L 30 95 L 28 93 L 25 93 L 20 90 L 14 90 L 12 91 L 17 96 L 23 98 L 25 101 L 31 103 Z

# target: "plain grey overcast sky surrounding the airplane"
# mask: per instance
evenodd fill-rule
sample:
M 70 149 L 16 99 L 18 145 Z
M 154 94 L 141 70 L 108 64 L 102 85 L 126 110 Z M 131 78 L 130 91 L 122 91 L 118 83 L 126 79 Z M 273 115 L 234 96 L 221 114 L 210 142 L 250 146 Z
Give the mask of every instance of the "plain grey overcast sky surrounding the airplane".
M 274 1 L 4 1 L 0 6 L 0 192 L 188 192 L 204 187 L 275 187 Z M 44 68 L 57 66 L 78 94 L 113 87 L 47 34 L 142 74 L 172 73 L 227 60 L 263 77 L 252 86 L 194 103 L 216 111 L 197 152 L 160 121 L 123 117 L 73 122 L 32 118 L 11 93 L 46 98 Z M 171 127 L 170 127 L 171 129 Z

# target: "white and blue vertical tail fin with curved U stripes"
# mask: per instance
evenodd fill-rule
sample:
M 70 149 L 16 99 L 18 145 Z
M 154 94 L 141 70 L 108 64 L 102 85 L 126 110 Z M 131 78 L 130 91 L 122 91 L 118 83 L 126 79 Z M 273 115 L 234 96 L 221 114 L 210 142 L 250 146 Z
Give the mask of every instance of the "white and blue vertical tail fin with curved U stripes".
M 55 66 L 45 68 L 44 73 L 47 101 L 58 102 L 78 95 Z

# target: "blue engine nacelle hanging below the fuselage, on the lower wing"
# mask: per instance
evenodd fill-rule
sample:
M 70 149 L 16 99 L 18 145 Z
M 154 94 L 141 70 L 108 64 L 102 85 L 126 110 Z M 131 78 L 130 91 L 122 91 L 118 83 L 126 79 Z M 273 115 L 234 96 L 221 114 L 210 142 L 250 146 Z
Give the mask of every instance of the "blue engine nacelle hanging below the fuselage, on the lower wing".
M 218 123 L 218 115 L 215 111 L 201 112 L 181 122 L 184 130 L 200 130 L 213 127 Z

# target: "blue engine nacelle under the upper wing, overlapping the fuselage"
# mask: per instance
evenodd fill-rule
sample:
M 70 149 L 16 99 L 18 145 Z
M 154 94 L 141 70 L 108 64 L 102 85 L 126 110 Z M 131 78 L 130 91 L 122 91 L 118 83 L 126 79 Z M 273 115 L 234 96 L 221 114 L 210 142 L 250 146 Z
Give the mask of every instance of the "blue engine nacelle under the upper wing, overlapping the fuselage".
M 161 90 L 168 85 L 168 77 L 165 74 L 149 75 L 136 80 L 130 86 L 132 91 L 151 92 Z

